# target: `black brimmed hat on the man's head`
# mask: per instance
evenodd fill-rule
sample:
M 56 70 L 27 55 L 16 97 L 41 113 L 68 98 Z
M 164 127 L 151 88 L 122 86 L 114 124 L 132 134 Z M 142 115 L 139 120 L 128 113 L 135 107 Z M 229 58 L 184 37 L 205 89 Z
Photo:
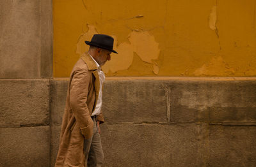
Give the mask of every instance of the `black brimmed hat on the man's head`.
M 104 48 L 111 52 L 117 54 L 115 50 L 113 50 L 114 39 L 111 36 L 105 34 L 94 34 L 91 41 L 84 41 L 87 45 L 93 47 Z

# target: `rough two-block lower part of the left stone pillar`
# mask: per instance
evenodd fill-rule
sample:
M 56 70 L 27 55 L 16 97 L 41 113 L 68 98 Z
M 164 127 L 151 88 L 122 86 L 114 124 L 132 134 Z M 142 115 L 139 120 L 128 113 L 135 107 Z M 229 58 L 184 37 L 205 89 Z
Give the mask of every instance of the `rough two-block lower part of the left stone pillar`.
M 49 166 L 49 80 L 2 79 L 0 97 L 0 166 Z

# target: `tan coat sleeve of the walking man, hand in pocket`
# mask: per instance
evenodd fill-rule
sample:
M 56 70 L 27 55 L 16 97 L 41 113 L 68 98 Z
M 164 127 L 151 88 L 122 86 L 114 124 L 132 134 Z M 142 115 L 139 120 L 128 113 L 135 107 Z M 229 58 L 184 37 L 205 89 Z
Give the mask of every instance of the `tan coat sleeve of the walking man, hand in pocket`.
M 74 112 L 77 125 L 86 139 L 93 135 L 93 120 L 86 105 L 90 77 L 92 76 L 89 75 L 86 69 L 79 69 L 74 72 L 70 83 L 70 106 Z

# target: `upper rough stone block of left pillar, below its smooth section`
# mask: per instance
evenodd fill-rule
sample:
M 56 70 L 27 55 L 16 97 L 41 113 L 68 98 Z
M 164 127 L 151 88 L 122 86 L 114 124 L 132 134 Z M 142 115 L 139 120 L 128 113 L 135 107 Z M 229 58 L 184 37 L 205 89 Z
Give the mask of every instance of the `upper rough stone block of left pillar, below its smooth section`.
M 0 89 L 0 126 L 49 124 L 49 80 L 0 80 Z

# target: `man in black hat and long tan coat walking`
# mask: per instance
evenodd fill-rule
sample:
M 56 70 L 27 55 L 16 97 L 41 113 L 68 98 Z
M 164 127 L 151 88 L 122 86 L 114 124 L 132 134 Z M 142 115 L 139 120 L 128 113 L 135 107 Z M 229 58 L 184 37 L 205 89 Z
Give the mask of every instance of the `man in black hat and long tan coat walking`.
M 91 41 L 85 41 L 90 48 L 72 69 L 55 167 L 102 166 L 99 125 L 104 122 L 101 106 L 105 75 L 100 66 L 110 61 L 111 52 L 117 54 L 113 41 L 111 36 L 95 34 Z

